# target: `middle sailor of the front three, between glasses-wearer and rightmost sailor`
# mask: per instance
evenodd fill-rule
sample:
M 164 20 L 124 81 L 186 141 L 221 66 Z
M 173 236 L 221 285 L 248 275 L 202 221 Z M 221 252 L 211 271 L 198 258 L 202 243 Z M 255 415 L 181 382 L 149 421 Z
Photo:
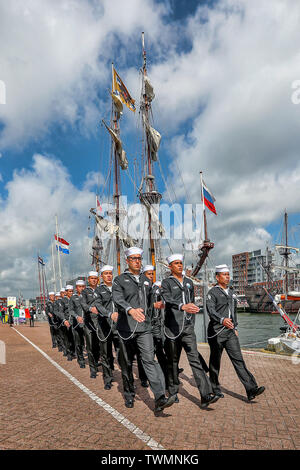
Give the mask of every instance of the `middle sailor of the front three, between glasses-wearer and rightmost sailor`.
M 194 304 L 193 281 L 182 276 L 183 256 L 174 254 L 167 258 L 171 276 L 162 281 L 161 296 L 165 301 L 165 352 L 168 360 L 168 390 L 176 396 L 179 390 L 178 362 L 181 348 L 186 352 L 189 364 L 201 395 L 201 407 L 218 400 L 205 374 L 194 331 L 195 314 L 199 307 Z

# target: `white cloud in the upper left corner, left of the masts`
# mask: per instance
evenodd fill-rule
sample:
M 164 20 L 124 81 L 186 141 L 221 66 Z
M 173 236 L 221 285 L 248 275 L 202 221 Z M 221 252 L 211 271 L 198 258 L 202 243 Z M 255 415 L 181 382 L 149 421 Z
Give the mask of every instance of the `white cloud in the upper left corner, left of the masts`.
M 109 89 L 117 38 L 117 57 L 124 56 L 142 29 L 157 36 L 165 10 L 153 0 L 2 3 L 0 70 L 7 104 L 0 109 L 1 147 L 22 147 L 52 124 L 93 132 L 104 107 L 97 92 Z

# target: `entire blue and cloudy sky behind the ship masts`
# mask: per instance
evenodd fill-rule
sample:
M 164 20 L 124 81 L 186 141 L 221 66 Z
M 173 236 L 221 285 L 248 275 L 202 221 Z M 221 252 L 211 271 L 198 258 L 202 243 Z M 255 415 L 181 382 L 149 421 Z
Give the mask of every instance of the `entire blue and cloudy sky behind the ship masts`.
M 165 201 L 198 203 L 204 172 L 218 212 L 208 214 L 212 264 L 280 241 L 285 209 L 298 246 L 299 24 L 294 0 L 2 1 L 0 297 L 37 294 L 36 253 L 49 266 L 55 214 L 71 243 L 65 278 L 89 269 L 111 62 L 138 101 L 142 31 Z M 124 111 L 121 126 L 133 168 L 138 113 Z M 122 189 L 135 202 L 127 176 Z

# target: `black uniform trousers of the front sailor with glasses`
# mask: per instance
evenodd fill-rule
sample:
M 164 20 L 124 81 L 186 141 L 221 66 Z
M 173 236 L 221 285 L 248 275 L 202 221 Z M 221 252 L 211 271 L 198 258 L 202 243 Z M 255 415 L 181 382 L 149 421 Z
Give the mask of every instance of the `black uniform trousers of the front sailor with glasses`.
M 120 334 L 123 338 L 129 336 L 127 332 L 120 332 Z M 131 400 L 135 396 L 132 363 L 138 351 L 150 388 L 155 400 L 158 400 L 165 394 L 165 379 L 160 365 L 154 359 L 152 333 L 135 333 L 132 338 L 127 340 L 119 338 L 119 346 L 118 361 L 121 367 L 125 399 Z

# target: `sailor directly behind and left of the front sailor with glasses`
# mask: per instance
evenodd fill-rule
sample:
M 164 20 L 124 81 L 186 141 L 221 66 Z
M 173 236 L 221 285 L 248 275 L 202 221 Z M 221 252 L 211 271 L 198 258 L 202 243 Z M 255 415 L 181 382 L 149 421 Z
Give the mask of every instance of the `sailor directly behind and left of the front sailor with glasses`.
M 101 268 L 102 283 L 96 288 L 97 297 L 91 304 L 91 320 L 99 340 L 100 361 L 102 364 L 104 389 L 110 390 L 113 380 L 112 343 L 113 324 L 117 321 L 118 312 L 112 300 L 113 266 Z

